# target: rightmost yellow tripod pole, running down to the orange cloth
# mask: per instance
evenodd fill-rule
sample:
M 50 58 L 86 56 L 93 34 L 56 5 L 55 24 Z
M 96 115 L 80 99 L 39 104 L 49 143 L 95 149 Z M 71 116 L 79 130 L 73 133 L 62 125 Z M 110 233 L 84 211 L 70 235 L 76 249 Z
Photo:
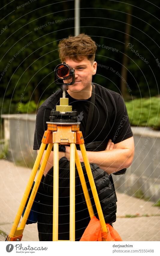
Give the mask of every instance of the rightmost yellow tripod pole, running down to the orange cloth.
M 104 220 L 101 204 L 100 204 L 100 201 L 99 201 L 99 198 L 98 198 L 97 189 L 96 189 L 95 182 L 94 182 L 94 179 L 93 179 L 93 175 L 92 175 L 92 171 L 91 171 L 91 167 L 90 167 L 90 164 L 89 164 L 89 160 L 88 160 L 88 157 L 87 157 L 86 148 L 85 148 L 84 143 L 80 144 L 80 150 L 82 152 L 83 161 L 84 161 L 84 164 L 85 164 L 85 167 L 86 167 L 86 172 L 87 172 L 87 176 L 88 176 L 88 179 L 89 179 L 89 184 L 90 184 L 91 189 L 92 189 L 92 194 L 93 194 L 93 198 L 94 198 L 94 201 L 95 201 L 95 206 L 97 208 L 98 217 L 99 217 L 99 220 L 101 222 L 101 229 L 102 229 L 102 231 L 107 232 L 106 223 L 105 223 L 105 220 Z

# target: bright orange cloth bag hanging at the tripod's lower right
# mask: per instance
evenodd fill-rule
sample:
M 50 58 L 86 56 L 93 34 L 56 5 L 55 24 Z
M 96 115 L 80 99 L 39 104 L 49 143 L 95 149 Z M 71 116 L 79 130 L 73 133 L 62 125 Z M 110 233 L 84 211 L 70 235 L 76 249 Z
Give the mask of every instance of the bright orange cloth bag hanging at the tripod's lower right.
M 107 241 L 122 241 L 118 232 L 108 223 L 106 223 L 107 231 L 101 231 L 101 223 L 100 221 L 94 216 L 90 220 L 88 226 L 86 227 L 80 241 L 102 241 L 102 238 L 106 239 Z

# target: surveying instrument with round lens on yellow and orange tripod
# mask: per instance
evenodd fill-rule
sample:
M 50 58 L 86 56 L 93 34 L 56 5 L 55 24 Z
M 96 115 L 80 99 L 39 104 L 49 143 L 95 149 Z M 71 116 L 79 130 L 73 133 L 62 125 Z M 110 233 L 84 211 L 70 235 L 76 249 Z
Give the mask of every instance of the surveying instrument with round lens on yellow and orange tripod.
M 91 186 L 92 195 L 95 201 L 95 206 L 97 209 L 98 217 L 101 223 L 101 231 L 107 235 L 107 227 L 104 220 L 104 216 L 101 209 L 101 204 L 98 198 L 98 193 L 96 190 L 95 182 L 93 179 L 91 167 L 86 153 L 86 148 L 84 145 L 84 139 L 82 132 L 79 130 L 80 122 L 78 122 L 77 111 L 72 111 L 72 106 L 68 105 L 68 98 L 66 98 L 66 90 L 68 86 L 74 84 L 75 81 L 75 70 L 68 66 L 65 62 L 59 64 L 55 68 L 56 84 L 61 84 L 63 89 L 63 96 L 60 98 L 60 105 L 56 106 L 56 110 L 51 111 L 50 122 L 47 122 L 47 131 L 44 132 L 42 138 L 41 147 L 39 149 L 38 155 L 35 160 L 29 181 L 26 186 L 20 207 L 18 209 L 17 215 L 14 220 L 10 234 L 7 236 L 6 241 L 21 241 L 23 236 L 23 230 L 25 228 L 29 213 L 31 211 L 33 202 L 35 200 L 38 187 L 40 185 L 47 161 L 49 159 L 51 150 L 53 148 L 53 241 L 75 241 L 75 164 L 77 167 L 78 175 L 82 185 L 83 193 L 85 196 L 87 208 L 89 211 L 89 216 L 92 218 L 94 216 L 94 211 L 92 208 L 91 200 L 89 197 L 89 192 L 87 189 L 86 181 L 84 178 L 82 166 L 77 153 L 76 144 L 79 144 L 80 150 L 83 156 L 84 165 L 86 168 L 86 173 L 89 179 L 89 184 Z M 65 80 L 70 80 L 71 83 L 64 83 Z M 39 169 L 37 179 L 32 188 L 32 184 L 35 179 L 35 175 L 38 171 L 38 167 L 41 162 L 44 150 L 47 146 L 47 150 L 41 167 Z M 70 145 L 70 228 L 69 228 L 69 240 L 58 240 L 58 208 L 59 208 L 59 145 Z M 29 197 L 32 188 L 32 193 Z M 29 198 L 28 204 L 26 202 Z M 23 215 L 23 219 L 19 225 L 22 213 L 26 206 L 26 210 Z M 106 239 L 102 239 L 106 241 Z

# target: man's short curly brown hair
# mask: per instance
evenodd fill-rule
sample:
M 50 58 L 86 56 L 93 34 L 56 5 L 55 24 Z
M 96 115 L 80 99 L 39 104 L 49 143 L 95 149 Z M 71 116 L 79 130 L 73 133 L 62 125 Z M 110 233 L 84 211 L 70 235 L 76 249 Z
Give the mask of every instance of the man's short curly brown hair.
M 84 33 L 78 36 L 69 36 L 59 42 L 59 58 L 62 62 L 66 58 L 71 58 L 74 61 L 82 61 L 85 57 L 94 62 L 95 52 L 97 49 L 95 41 Z

